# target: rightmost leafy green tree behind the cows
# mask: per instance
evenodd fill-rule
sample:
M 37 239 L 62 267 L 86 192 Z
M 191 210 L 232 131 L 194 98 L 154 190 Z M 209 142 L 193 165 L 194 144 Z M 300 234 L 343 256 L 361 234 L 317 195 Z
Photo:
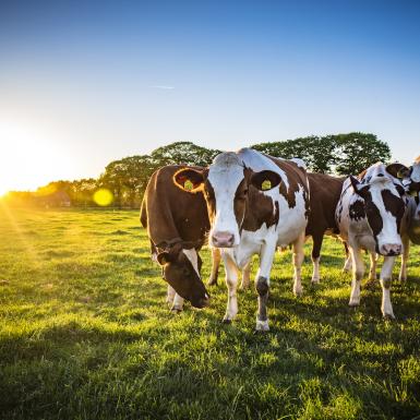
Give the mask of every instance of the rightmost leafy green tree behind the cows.
M 335 171 L 357 175 L 376 161 L 391 159 L 389 146 L 369 133 L 348 133 L 328 136 L 335 144 Z

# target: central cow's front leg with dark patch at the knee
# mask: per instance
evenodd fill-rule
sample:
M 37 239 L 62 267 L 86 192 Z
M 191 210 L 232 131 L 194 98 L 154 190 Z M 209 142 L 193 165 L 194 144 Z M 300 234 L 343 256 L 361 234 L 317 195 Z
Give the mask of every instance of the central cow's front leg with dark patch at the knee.
M 259 293 L 259 312 L 256 314 L 255 331 L 269 329 L 267 316 L 267 301 L 269 291 L 269 273 L 273 266 L 273 259 L 276 252 L 276 244 L 275 241 L 268 240 L 267 242 L 265 242 L 261 249 L 260 268 L 255 277 L 255 289 Z

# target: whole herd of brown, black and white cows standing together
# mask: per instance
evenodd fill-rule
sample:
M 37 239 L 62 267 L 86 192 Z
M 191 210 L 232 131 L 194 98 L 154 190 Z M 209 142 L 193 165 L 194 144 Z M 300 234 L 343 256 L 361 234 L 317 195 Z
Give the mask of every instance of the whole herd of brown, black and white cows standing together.
M 238 272 L 242 287 L 250 262 L 259 255 L 256 331 L 268 331 L 268 293 L 277 249 L 291 247 L 293 293 L 302 293 L 305 238 L 312 237 L 312 283 L 320 281 L 324 235 L 344 243 L 352 268 L 350 305 L 360 303 L 364 275 L 362 250 L 370 254 L 370 278 L 383 255 L 382 313 L 394 317 L 392 271 L 401 255 L 399 279 L 407 277 L 410 240 L 420 243 L 420 157 L 409 167 L 375 164 L 362 173 L 337 178 L 307 171 L 301 159 L 283 159 L 251 148 L 217 155 L 207 168 L 166 166 L 153 173 L 144 194 L 141 223 L 147 228 L 153 259 L 168 283 L 168 302 L 181 311 L 187 299 L 195 308 L 209 304 L 201 278 L 200 250 L 212 250 L 209 285 L 217 283 L 223 259 L 228 288 L 225 323 L 238 313 Z

